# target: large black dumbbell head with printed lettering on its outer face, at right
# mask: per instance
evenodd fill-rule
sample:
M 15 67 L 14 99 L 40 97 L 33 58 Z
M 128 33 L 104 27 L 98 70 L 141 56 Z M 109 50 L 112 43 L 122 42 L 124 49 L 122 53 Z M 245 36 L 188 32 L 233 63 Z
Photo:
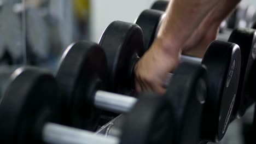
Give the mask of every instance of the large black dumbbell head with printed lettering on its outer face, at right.
M 209 93 L 203 110 L 202 139 L 218 142 L 228 128 L 241 68 L 238 45 L 215 40 L 202 59 L 207 67 Z

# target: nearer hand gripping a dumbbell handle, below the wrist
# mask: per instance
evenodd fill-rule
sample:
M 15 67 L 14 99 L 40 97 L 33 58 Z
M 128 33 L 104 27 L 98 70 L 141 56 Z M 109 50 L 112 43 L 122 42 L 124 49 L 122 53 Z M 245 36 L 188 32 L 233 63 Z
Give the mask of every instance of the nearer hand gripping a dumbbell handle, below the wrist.
M 167 73 L 174 70 L 181 56 L 180 49 L 172 45 L 172 49 L 160 49 L 170 46 L 158 38 L 150 49 L 135 65 L 135 87 L 137 92 L 154 91 L 159 94 L 165 93 L 164 81 Z M 166 51 L 168 50 L 168 51 Z

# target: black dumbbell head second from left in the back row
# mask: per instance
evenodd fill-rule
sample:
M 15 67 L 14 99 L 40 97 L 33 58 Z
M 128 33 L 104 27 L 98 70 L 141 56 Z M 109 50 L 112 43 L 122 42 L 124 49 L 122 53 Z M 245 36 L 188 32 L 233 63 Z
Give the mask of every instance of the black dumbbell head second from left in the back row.
M 63 53 L 56 80 L 62 93 L 63 124 L 96 130 L 100 110 L 94 108 L 94 94 L 107 82 L 104 51 L 95 43 L 79 41 Z

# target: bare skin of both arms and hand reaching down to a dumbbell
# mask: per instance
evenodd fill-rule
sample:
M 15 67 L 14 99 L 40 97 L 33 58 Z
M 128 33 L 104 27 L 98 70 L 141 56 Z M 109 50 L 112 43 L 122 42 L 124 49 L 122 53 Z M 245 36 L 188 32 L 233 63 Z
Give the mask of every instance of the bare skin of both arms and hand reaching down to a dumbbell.
M 240 0 L 172 0 L 158 37 L 135 65 L 136 91 L 164 94 L 167 73 L 173 71 L 181 54 L 202 57 L 215 40 L 220 23 Z M 189 25 L 188 25 L 189 23 Z

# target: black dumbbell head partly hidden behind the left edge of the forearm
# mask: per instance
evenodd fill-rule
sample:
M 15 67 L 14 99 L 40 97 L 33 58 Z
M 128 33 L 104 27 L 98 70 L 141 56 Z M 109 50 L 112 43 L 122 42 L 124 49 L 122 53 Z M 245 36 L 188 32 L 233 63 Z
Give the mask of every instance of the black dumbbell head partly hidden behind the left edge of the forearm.
M 142 11 L 136 20 L 136 24 L 141 27 L 143 36 L 144 36 L 144 51 L 147 51 L 152 45 L 155 36 L 156 30 L 158 29 L 158 24 L 161 20 L 163 11 L 147 9 Z

